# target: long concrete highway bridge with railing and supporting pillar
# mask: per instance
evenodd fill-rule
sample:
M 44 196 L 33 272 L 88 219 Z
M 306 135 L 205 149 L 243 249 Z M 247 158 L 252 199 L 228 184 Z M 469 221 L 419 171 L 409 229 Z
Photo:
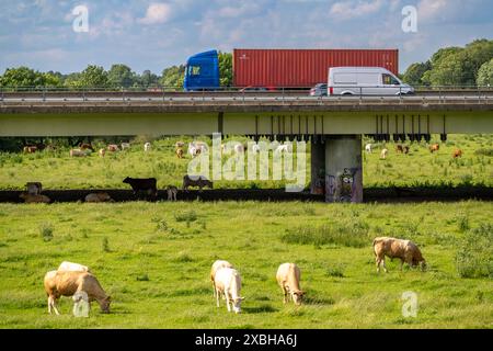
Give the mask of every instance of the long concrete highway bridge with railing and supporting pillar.
M 0 137 L 248 135 L 311 143 L 312 192 L 363 201 L 362 135 L 422 140 L 493 133 L 493 91 L 395 97 L 300 92 L 2 92 Z M 347 176 L 349 174 L 349 177 Z M 344 181 L 351 182 L 345 186 Z M 351 188 L 348 195 L 347 189 Z

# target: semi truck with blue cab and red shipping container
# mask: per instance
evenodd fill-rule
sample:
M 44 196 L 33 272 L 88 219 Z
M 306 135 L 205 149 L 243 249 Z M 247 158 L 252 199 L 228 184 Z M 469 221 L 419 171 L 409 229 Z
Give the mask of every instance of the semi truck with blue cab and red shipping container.
M 237 88 L 309 89 L 326 82 L 332 67 L 381 67 L 399 72 L 398 49 L 251 49 L 232 53 L 232 86 Z M 188 57 L 184 89 L 218 90 L 218 52 Z

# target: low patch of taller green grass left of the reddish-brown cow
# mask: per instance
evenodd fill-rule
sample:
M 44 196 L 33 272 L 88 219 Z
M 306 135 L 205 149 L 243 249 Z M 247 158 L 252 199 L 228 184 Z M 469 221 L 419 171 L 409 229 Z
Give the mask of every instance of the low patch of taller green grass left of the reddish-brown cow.
M 341 245 L 360 248 L 368 245 L 369 226 L 365 222 L 336 223 L 320 227 L 295 227 L 286 229 L 280 237 L 283 242 L 300 245 Z

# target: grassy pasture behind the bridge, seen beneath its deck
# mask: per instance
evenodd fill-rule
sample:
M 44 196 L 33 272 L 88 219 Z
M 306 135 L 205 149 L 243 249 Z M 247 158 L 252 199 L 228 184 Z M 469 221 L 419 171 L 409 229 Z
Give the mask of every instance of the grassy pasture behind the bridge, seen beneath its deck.
M 122 183 L 125 177 L 158 179 L 158 188 L 169 184 L 181 185 L 186 173 L 190 156 L 177 159 L 174 155 L 176 140 L 191 138 L 161 138 L 152 141 L 152 151 L 144 154 L 144 140 L 139 138 L 130 150 L 106 155 L 100 158 L 91 155 L 87 158 L 73 158 L 68 149 L 43 151 L 30 155 L 0 152 L 0 189 L 23 190 L 30 181 L 39 181 L 44 189 L 129 189 Z M 202 138 L 207 140 L 206 137 Z M 245 138 L 234 138 L 245 141 Z M 364 140 L 364 144 L 368 140 Z M 434 136 L 433 141 L 438 141 Z M 409 143 L 408 143 L 409 144 Z M 99 145 L 103 146 L 103 145 Z M 449 135 L 440 143 L 440 150 L 431 154 L 426 143 L 411 145 L 410 155 L 394 151 L 389 143 L 389 157 L 379 159 L 383 145 L 377 144 L 371 155 L 364 154 L 364 186 L 440 186 L 457 184 L 493 185 L 493 135 Z M 456 148 L 463 150 L 461 159 L 451 157 Z M 307 170 L 310 171 L 308 146 Z M 225 161 L 227 158 L 223 159 Z M 307 174 L 307 185 L 310 181 Z M 215 189 L 223 188 L 284 188 L 284 181 L 217 181 Z

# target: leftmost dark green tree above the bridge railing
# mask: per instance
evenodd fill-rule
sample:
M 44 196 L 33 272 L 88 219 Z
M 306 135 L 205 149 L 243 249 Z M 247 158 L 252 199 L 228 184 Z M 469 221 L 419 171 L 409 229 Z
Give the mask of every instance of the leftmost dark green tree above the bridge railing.
M 0 78 L 0 86 L 12 88 L 58 87 L 60 86 L 60 80 L 54 75 L 42 73 L 37 70 L 35 71 L 28 67 L 22 66 L 5 69 L 5 72 Z

